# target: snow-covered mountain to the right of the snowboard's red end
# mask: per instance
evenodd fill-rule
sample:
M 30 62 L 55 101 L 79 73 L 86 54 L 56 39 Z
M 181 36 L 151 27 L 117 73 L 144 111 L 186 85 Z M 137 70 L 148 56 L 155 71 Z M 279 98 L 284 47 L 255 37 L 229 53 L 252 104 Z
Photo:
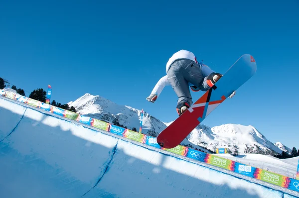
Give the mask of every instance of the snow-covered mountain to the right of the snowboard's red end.
M 223 124 L 212 128 L 199 125 L 189 134 L 188 140 L 214 151 L 217 148 L 228 148 L 234 155 L 242 153 L 270 155 L 282 152 L 251 125 Z

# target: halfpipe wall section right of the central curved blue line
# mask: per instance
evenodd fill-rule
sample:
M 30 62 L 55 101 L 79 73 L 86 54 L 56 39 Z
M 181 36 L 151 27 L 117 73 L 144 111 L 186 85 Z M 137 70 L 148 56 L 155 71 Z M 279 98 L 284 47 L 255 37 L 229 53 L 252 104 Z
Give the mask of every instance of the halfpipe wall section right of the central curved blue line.
M 99 184 L 84 198 L 282 198 L 283 194 L 120 140 Z

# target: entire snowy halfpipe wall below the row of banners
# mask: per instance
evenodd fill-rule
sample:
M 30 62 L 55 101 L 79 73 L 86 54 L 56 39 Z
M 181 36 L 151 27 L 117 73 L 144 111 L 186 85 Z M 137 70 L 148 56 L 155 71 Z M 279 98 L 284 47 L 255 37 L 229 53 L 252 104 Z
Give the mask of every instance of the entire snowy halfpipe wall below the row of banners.
M 299 195 L 220 171 L 0 97 L 1 198 L 294 198 Z

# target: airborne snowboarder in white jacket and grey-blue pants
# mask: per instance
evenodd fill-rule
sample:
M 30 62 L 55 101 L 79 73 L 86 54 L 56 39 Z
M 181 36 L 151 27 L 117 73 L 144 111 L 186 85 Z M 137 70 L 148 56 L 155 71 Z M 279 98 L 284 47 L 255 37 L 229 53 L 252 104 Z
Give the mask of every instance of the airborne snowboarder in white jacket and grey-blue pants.
M 176 111 L 180 116 L 192 104 L 192 91 L 208 91 L 223 75 L 211 70 L 207 65 L 198 63 L 195 55 L 187 50 L 174 53 L 166 64 L 166 76 L 162 77 L 147 98 L 155 102 L 165 86 L 171 85 L 178 97 Z M 232 98 L 233 92 L 229 98 Z

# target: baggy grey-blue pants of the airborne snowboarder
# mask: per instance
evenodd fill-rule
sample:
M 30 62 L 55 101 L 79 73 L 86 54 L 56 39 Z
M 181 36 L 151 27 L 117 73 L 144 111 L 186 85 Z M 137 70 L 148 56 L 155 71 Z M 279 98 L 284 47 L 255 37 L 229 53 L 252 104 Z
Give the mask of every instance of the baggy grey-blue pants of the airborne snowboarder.
M 187 102 L 192 104 L 189 86 L 196 86 L 201 91 L 207 91 L 207 76 L 214 72 L 208 66 L 202 66 L 189 59 L 180 59 L 172 63 L 167 72 L 167 79 L 178 97 L 177 104 Z M 191 85 L 190 85 L 191 84 Z

